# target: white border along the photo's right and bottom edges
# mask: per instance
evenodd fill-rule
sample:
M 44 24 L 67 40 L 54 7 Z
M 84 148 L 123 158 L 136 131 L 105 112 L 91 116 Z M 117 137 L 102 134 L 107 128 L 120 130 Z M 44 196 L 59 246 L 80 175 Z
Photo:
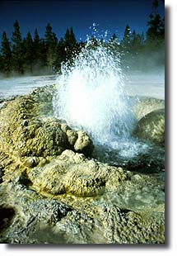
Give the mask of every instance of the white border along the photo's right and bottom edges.
M 96 1 L 96 0 L 95 0 Z M 123 0 L 117 0 L 117 1 L 123 1 Z M 143 1 L 143 0 L 139 0 Z M 24 245 L 17 245 L 17 246 L 11 246 L 7 244 L 0 244 L 0 255 L 2 256 L 40 256 L 40 255 L 48 255 L 50 251 L 52 251 L 52 256 L 59 255 L 59 254 L 72 254 L 72 256 L 77 255 L 77 256 L 86 256 L 91 254 L 100 254 L 101 256 L 103 253 L 108 254 L 110 253 L 111 255 L 118 255 L 120 253 L 123 253 L 123 255 L 129 255 L 131 256 L 136 255 L 136 256 L 145 256 L 151 254 L 151 255 L 156 255 L 156 256 L 166 256 L 166 255 L 175 255 L 177 249 L 177 230 L 175 228 L 177 227 L 176 225 L 176 220 L 177 220 L 177 212 L 176 212 L 176 193 L 175 193 L 175 187 L 177 187 L 177 169 L 175 169 L 175 161 L 177 160 L 176 152 L 177 152 L 177 127 L 176 127 L 176 116 L 177 116 L 177 108 L 176 107 L 176 102 L 177 102 L 177 93 L 176 93 L 176 88 L 177 88 L 177 81 L 176 81 L 176 75 L 177 75 L 177 64 L 175 65 L 176 59 L 177 58 L 177 38 L 176 38 L 176 31 L 177 31 L 177 1 L 176 0 L 166 0 L 165 1 L 165 7 L 168 8 L 168 21 L 170 22 L 170 26 L 168 28 L 170 29 L 170 32 L 167 33 L 167 35 L 170 36 L 168 41 L 170 42 L 169 47 L 170 47 L 170 57 L 169 58 L 169 67 L 167 68 L 167 71 L 169 72 L 169 81 L 167 81 L 166 84 L 166 89 L 168 90 L 168 93 L 170 94 L 168 97 L 168 102 L 169 104 L 169 111 L 166 113 L 166 115 L 170 115 L 170 118 L 167 118 L 168 121 L 170 121 L 170 124 L 166 124 L 168 126 L 168 138 L 170 139 L 170 149 L 166 149 L 170 151 L 170 155 L 168 159 L 169 163 L 169 169 L 166 170 L 166 172 L 170 173 L 170 179 L 168 180 L 168 186 L 170 186 L 170 189 L 168 189 L 168 197 L 167 199 L 169 201 L 166 201 L 166 206 L 170 207 L 170 209 L 166 209 L 166 211 L 169 212 L 169 215 L 166 216 L 169 221 L 168 225 L 166 226 L 166 229 L 169 230 L 167 235 L 169 235 L 169 238 L 167 239 L 169 241 L 169 244 L 161 246 L 133 246 L 129 247 L 128 246 L 125 248 L 124 246 L 99 246 L 96 248 L 96 246 L 82 246 L 79 248 L 79 246 L 72 246 L 70 247 L 68 245 L 63 247 L 63 246 L 35 246 L 35 244 L 30 244 L 28 246 Z M 169 52 L 169 49 L 167 49 L 167 52 Z

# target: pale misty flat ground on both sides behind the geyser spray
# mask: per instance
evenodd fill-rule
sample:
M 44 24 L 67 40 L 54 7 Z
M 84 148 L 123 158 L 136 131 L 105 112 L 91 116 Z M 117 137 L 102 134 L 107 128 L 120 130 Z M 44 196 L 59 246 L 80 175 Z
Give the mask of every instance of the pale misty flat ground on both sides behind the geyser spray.
M 128 69 L 124 72 L 124 86 L 131 96 L 165 98 L 165 72 L 161 67 L 147 72 L 140 69 Z M 56 74 L 35 76 L 25 73 L 4 78 L 0 74 L 0 98 L 6 99 L 16 95 L 24 95 L 35 88 L 56 83 Z

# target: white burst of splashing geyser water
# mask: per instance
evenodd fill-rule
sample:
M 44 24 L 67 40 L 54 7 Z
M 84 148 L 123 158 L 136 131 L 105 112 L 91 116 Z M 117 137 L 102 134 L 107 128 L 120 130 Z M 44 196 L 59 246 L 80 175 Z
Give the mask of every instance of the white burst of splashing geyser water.
M 63 65 L 57 83 L 54 113 L 59 119 L 86 130 L 95 145 L 137 154 L 137 142 L 128 143 L 136 119 L 118 55 L 99 40 L 94 46 L 88 40 L 72 67 Z

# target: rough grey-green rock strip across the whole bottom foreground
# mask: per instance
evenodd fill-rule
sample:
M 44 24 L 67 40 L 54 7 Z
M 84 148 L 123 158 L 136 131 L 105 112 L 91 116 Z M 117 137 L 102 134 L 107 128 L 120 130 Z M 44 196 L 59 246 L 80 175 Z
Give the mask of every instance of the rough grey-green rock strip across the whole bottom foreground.
M 64 156 L 63 156 L 64 157 Z M 92 164 L 91 164 L 92 165 Z M 111 194 L 113 197 L 114 194 Z M 63 197 L 60 197 L 63 198 Z M 116 206 L 114 198 L 70 204 L 42 197 L 18 178 L 0 187 L 0 241 L 8 244 L 163 244 L 162 205 L 135 212 Z M 100 202 L 99 202 L 100 200 Z M 69 197 L 66 197 L 69 201 Z M 73 204 L 75 207 L 70 206 Z

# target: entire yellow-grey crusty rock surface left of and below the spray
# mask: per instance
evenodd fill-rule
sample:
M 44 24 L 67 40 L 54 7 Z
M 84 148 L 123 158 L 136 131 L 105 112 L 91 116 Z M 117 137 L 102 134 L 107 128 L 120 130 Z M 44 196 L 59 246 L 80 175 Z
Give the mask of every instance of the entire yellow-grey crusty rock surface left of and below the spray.
M 92 159 L 86 132 L 54 118 L 54 90 L 0 110 L 0 242 L 165 243 L 164 173 Z

